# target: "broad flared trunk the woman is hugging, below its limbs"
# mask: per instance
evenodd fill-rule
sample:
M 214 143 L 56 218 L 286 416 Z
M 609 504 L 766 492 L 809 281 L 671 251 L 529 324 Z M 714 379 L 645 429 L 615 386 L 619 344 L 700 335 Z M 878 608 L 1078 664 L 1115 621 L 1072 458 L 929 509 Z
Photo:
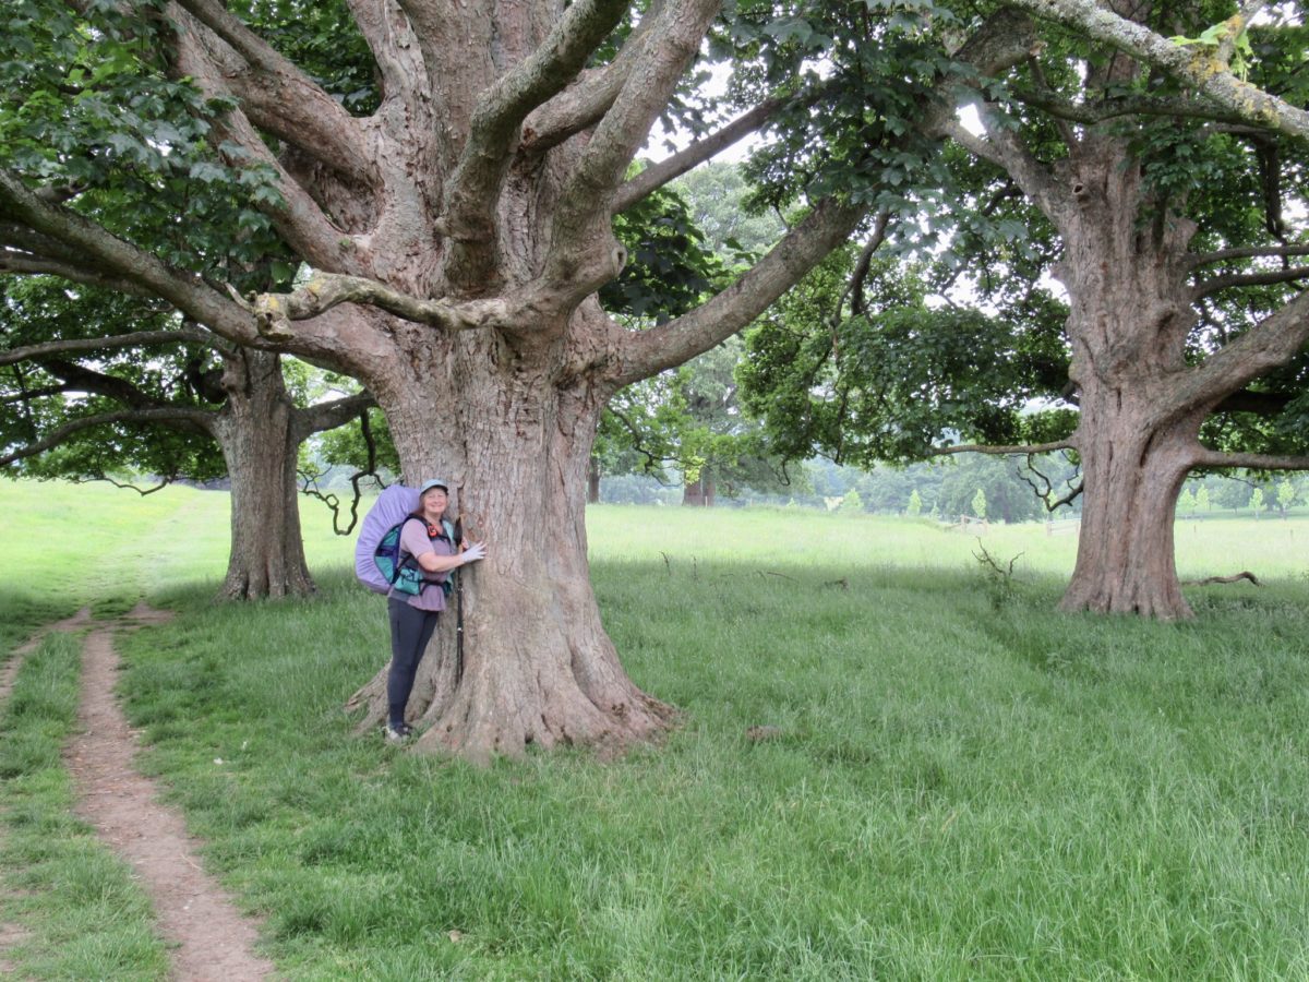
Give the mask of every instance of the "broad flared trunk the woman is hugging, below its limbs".
M 415 402 L 414 386 L 403 382 L 369 382 L 390 420 L 406 482 L 450 479 L 450 508 L 465 534 L 487 543 L 487 559 L 458 573 L 462 678 L 457 594 L 419 668 L 406 714 L 427 728 L 418 746 L 486 761 L 530 746 L 615 752 L 649 740 L 669 725 L 673 710 L 623 670 L 601 625 L 586 562 L 588 461 L 609 393 L 576 378 L 542 386 L 542 369 L 524 367 L 529 359 L 496 364 L 473 351 L 486 343 L 459 339 L 463 351 L 454 357 L 465 371 L 437 399 Z M 427 356 L 415 355 L 414 363 Z M 538 384 L 525 385 L 528 378 Z M 382 670 L 351 699 L 350 706 L 367 707 L 361 727 L 386 712 L 385 677 Z

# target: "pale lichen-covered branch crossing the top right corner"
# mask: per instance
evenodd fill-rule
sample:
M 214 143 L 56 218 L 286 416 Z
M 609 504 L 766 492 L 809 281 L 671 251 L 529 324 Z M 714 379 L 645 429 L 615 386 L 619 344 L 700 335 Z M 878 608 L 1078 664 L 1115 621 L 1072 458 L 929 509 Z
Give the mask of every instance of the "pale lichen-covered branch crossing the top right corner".
M 1237 79 L 1220 58 L 1221 47 L 1175 45 L 1097 0 L 1011 0 L 1011 4 L 1156 65 L 1240 119 L 1309 139 L 1309 113 Z M 1228 35 L 1236 39 L 1245 26 L 1240 16 L 1230 18 Z

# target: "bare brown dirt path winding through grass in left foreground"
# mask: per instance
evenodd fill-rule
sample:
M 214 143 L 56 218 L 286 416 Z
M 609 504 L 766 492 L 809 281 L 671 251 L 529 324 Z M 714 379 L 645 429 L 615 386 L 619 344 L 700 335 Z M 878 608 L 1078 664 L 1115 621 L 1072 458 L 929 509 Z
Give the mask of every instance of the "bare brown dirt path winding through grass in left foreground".
M 132 865 L 151 894 L 160 932 L 177 945 L 177 978 L 264 978 L 272 973 L 272 964 L 254 955 L 255 924 L 200 868 L 181 816 L 160 804 L 154 783 L 132 766 L 136 738 L 114 698 L 114 631 L 161 623 L 168 617 L 137 605 L 119 621 L 97 626 L 86 638 L 77 714 L 82 733 L 67 754 L 80 799 L 77 813 Z

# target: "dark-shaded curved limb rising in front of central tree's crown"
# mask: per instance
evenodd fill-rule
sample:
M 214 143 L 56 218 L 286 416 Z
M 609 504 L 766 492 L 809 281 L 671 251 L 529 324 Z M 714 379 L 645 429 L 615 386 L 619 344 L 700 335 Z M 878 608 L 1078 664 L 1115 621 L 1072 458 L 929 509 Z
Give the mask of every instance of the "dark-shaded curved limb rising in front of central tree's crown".
M 482 96 L 445 186 L 439 230 L 453 240 L 446 275 L 457 292 L 493 283 L 493 212 L 528 114 L 560 92 L 618 25 L 627 0 L 577 0 L 545 43 Z

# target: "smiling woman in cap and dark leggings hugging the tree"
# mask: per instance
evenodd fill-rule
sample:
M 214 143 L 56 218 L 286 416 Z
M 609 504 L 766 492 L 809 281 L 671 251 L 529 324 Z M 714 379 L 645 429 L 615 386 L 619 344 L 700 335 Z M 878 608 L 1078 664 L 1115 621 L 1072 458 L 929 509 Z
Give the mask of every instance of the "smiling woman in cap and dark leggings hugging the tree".
M 391 588 L 386 594 L 386 611 L 391 622 L 391 669 L 386 676 L 386 738 L 401 741 L 412 736 L 414 728 L 404 721 L 404 707 L 414 691 L 418 663 L 423 660 L 427 643 L 436 630 L 436 619 L 445 610 L 445 591 L 441 584 L 449 572 L 465 563 L 486 556 L 486 546 L 463 543 L 462 550 L 446 534 L 442 517 L 450 501 L 450 490 L 444 481 L 428 481 L 419 488 L 418 509 L 401 528 L 401 562 L 416 563 L 423 571 L 423 588 L 418 593 L 402 593 Z

